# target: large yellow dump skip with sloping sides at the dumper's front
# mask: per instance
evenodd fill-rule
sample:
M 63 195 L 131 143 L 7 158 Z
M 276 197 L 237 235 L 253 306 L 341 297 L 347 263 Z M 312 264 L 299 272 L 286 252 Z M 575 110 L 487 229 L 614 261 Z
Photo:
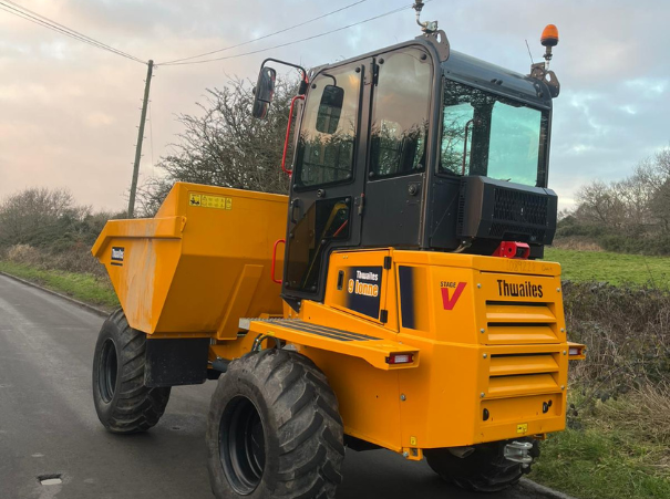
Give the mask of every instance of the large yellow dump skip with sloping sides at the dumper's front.
M 240 316 L 281 314 L 270 279 L 286 196 L 177 183 L 154 218 L 111 220 L 92 252 L 132 328 L 235 339 Z M 282 268 L 284 254 L 277 254 Z M 171 334 L 172 333 L 172 334 Z

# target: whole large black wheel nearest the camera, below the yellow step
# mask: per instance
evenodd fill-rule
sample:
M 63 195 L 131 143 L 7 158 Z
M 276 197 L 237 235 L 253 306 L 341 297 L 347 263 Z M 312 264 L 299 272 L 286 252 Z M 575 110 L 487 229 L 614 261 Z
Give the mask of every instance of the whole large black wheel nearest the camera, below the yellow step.
M 207 450 L 218 499 L 334 498 L 344 458 L 336 395 L 303 355 L 246 355 L 218 380 Z

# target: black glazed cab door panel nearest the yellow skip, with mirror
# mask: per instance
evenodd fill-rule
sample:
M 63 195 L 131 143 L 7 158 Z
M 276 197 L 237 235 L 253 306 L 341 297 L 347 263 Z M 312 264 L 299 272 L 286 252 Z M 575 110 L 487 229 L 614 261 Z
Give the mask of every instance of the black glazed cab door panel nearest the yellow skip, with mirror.
M 328 66 L 310 82 L 288 214 L 282 295 L 289 303 L 322 298 L 331 250 L 360 245 L 370 64 Z

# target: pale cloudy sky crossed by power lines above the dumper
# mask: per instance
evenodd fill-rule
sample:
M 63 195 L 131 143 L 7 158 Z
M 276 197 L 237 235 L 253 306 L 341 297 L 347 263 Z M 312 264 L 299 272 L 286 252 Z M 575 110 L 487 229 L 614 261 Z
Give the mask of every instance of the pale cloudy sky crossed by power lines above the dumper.
M 419 34 L 404 10 L 333 34 L 261 54 L 206 64 L 159 63 L 281 30 L 357 0 L 12 0 L 158 66 L 152 81 L 141 177 L 158 171 L 205 89 L 227 75 L 255 79 L 266 56 L 313 66 Z M 330 31 L 411 0 L 364 0 L 279 35 L 230 50 L 235 55 Z M 0 0 L 0 4 L 9 4 Z M 1 8 L 1 7 L 0 7 Z M 518 72 L 536 62 L 538 39 L 557 24 L 552 69 L 555 101 L 549 183 L 569 207 L 591 179 L 627 176 L 670 144 L 670 1 L 432 0 L 453 50 Z M 132 174 L 146 66 L 0 10 L 0 198 L 25 187 L 68 187 L 95 208 L 123 209 Z M 141 180 L 142 181 L 142 180 Z

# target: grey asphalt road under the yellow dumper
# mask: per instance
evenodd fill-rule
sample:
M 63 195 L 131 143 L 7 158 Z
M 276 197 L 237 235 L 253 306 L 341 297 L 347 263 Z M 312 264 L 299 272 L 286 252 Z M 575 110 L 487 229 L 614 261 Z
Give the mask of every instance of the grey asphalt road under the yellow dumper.
M 107 433 L 91 397 L 103 319 L 0 276 L 0 499 L 212 498 L 205 424 L 214 382 L 173 388 L 146 434 Z M 38 477 L 60 474 L 62 484 Z M 348 450 L 338 498 L 482 498 L 385 450 Z M 544 496 L 519 487 L 495 499 Z

